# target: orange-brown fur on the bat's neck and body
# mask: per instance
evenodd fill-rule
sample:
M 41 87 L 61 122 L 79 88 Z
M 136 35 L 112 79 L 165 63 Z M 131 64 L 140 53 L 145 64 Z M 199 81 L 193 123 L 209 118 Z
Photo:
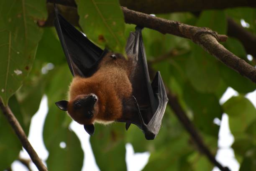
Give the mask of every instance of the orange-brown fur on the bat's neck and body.
M 129 57 L 125 59 L 120 54 L 111 55 L 113 54 L 109 53 L 103 57 L 95 74 L 88 78 L 76 76 L 69 87 L 68 113 L 80 124 L 107 124 L 118 120 L 123 114 L 123 100 L 131 97 L 132 86 L 129 77 L 132 60 Z M 74 110 L 73 102 L 81 94 L 90 93 L 97 95 L 98 101 L 95 114 L 89 120 L 83 117 L 83 113 Z

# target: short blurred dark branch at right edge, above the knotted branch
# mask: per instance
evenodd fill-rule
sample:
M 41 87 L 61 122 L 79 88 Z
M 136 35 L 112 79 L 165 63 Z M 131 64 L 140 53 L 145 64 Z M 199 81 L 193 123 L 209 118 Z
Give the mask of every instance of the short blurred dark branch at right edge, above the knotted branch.
M 256 36 L 228 18 L 228 36 L 235 37 L 243 44 L 248 54 L 256 58 Z

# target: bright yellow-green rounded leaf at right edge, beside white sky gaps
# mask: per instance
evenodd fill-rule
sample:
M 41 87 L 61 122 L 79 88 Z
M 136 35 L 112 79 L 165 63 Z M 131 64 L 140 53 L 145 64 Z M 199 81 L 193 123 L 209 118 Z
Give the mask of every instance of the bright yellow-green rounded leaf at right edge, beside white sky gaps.
M 228 114 L 230 130 L 235 138 L 256 120 L 256 109 L 246 97 L 231 97 L 223 104 L 223 110 Z

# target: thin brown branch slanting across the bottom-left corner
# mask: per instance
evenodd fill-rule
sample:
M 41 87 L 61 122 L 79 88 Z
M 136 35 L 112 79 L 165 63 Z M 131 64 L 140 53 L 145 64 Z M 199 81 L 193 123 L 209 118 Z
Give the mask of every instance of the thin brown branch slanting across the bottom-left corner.
M 47 168 L 42 163 L 41 159 L 38 157 L 36 151 L 33 149 L 32 145 L 29 143 L 24 130 L 21 128 L 20 123 L 13 115 L 13 112 L 10 110 L 8 106 L 4 106 L 3 102 L 0 100 L 0 108 L 3 111 L 3 114 L 7 118 L 8 122 L 12 126 L 13 130 L 15 131 L 16 135 L 20 139 L 22 146 L 28 152 L 31 160 L 35 163 L 36 167 L 39 171 L 47 171 Z

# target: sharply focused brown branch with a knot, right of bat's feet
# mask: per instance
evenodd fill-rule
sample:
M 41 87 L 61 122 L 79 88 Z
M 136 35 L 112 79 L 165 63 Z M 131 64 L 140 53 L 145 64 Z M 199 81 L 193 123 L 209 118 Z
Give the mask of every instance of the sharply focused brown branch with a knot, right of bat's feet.
M 166 20 L 145 13 L 129 10 L 125 7 L 121 8 L 123 10 L 126 23 L 151 28 L 163 34 L 169 33 L 176 36 L 189 38 L 202 46 L 202 48 L 222 61 L 225 65 L 256 83 L 256 69 L 243 59 L 240 59 L 232 54 L 218 42 L 225 41 L 227 36 L 219 35 L 209 28 L 190 26 L 179 23 L 178 21 Z

